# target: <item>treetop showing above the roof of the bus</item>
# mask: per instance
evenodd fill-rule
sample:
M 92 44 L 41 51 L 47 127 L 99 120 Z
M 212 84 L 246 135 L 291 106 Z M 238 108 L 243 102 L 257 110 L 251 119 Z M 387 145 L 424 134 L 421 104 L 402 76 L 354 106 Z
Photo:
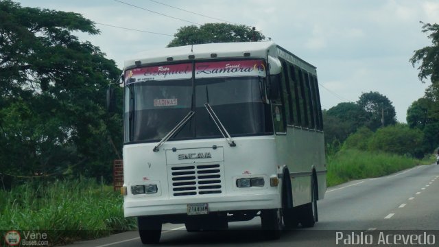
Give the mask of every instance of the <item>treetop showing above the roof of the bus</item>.
M 196 25 L 180 27 L 178 32 L 174 34 L 174 39 L 171 40 L 167 47 L 259 41 L 263 39 L 265 39 L 265 36 L 261 32 L 254 30 L 254 27 L 228 23 L 206 23 L 200 25 L 200 27 Z

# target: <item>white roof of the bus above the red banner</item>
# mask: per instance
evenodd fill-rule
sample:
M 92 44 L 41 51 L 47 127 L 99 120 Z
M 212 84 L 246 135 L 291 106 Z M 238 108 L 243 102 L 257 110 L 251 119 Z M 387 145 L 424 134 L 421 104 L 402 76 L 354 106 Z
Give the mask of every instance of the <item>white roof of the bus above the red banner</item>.
M 216 54 L 216 58 L 244 58 L 244 53 L 250 53 L 250 58 L 266 58 L 268 55 L 274 58 L 283 58 L 304 69 L 316 71 L 316 67 L 312 64 L 298 58 L 272 41 L 211 43 L 154 49 L 141 52 L 137 55 L 139 59 L 126 60 L 124 67 L 126 69 L 135 67 L 136 61 L 141 61 L 141 64 L 150 64 L 167 62 L 169 58 L 172 58 L 172 61 L 189 60 L 190 55 L 193 55 L 195 59 L 209 59 L 212 58 L 211 54 Z

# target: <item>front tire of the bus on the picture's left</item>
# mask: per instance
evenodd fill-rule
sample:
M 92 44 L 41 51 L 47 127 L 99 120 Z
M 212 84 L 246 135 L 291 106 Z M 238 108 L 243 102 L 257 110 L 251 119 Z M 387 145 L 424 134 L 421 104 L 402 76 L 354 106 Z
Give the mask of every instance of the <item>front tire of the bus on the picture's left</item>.
M 137 226 L 142 244 L 158 244 L 162 234 L 162 222 L 156 217 L 137 217 Z

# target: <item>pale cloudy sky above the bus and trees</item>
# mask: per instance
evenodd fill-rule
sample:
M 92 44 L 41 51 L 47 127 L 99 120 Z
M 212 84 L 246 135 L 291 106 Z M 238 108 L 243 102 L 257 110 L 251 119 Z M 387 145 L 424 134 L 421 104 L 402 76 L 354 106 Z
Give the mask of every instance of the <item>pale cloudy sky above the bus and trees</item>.
M 142 51 L 166 47 L 182 26 L 221 19 L 256 27 L 317 67 L 322 108 L 356 102 L 361 93 L 377 91 L 392 101 L 400 122 L 406 121 L 407 108 L 429 86 L 418 80 L 418 70 L 409 62 L 416 49 L 431 45 L 420 21 L 439 23 L 437 0 L 17 2 L 23 7 L 77 12 L 99 23 L 100 34 L 75 35 L 100 47 L 120 69 L 124 60 L 139 58 Z

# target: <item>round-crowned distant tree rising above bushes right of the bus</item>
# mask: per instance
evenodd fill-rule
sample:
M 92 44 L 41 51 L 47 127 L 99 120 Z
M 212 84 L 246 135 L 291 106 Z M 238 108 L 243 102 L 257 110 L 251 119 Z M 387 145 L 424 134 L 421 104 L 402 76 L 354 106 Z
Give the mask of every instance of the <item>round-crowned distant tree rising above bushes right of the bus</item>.
M 396 124 L 396 111 L 388 97 L 370 91 L 369 93 L 362 93 L 357 104 L 366 111 L 366 126 L 370 130 L 375 131 L 382 125 Z

